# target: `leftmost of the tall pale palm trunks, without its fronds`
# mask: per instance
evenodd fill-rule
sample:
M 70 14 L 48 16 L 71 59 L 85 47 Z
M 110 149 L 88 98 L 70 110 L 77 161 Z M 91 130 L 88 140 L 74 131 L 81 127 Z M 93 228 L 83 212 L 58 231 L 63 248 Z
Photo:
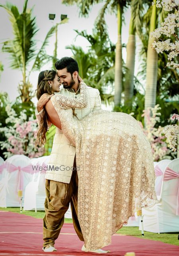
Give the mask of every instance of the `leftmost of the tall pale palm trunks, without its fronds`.
M 122 27 L 122 10 L 120 4 L 117 6 L 117 20 L 118 20 L 118 38 L 115 53 L 115 106 L 121 104 L 122 93 L 122 43 L 121 43 L 121 27 Z

